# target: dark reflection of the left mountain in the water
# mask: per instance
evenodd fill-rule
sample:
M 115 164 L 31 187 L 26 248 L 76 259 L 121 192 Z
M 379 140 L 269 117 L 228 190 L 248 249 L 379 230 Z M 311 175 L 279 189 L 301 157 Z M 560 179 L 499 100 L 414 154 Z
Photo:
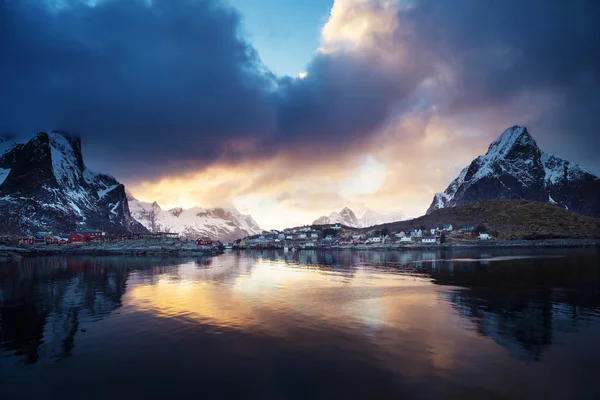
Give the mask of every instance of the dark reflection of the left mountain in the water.
M 71 355 L 82 324 L 121 306 L 130 271 L 145 268 L 148 282 L 174 260 L 36 258 L 0 264 L 0 347 L 31 364 Z

